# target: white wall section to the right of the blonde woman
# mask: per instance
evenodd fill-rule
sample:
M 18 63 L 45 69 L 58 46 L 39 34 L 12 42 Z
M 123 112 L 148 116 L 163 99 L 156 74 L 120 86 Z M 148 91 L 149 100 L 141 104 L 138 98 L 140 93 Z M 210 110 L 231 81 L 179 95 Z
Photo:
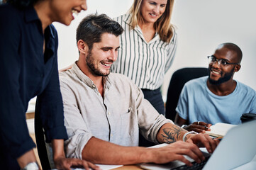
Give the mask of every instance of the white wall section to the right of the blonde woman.
M 172 73 L 182 67 L 208 67 L 206 56 L 222 42 L 233 42 L 243 51 L 241 69 L 234 79 L 256 90 L 256 1 L 177 0 L 172 23 L 177 26 L 179 45 L 167 72 L 163 94 Z

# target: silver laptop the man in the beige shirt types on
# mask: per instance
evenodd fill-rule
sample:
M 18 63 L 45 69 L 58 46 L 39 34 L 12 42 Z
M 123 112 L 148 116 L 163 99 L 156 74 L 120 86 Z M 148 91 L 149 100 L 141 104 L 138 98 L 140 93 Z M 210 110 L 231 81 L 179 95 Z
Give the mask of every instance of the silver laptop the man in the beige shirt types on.
M 240 167 L 256 169 L 256 120 L 230 129 L 213 154 L 208 154 L 205 148 L 201 148 L 201 151 L 205 157 L 211 156 L 204 165 L 204 170 L 240 169 Z M 193 159 L 185 157 L 194 162 Z M 148 170 L 178 169 L 179 166 L 184 166 L 184 163 L 174 161 L 168 164 L 140 164 L 141 168 Z

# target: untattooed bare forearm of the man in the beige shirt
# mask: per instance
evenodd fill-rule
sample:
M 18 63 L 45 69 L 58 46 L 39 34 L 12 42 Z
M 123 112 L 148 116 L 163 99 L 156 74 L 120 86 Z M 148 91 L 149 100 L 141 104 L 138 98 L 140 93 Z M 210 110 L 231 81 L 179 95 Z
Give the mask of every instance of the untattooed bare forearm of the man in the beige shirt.
M 123 147 L 96 137 L 82 151 L 82 159 L 94 164 L 139 164 L 150 162 L 152 156 L 145 147 Z

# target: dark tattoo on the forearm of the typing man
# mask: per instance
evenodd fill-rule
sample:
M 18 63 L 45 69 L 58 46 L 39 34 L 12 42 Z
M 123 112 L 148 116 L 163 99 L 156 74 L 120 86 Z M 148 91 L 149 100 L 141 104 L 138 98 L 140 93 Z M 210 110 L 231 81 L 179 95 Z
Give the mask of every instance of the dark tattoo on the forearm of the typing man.
M 174 126 L 174 128 L 165 128 L 163 129 L 164 134 L 162 134 L 162 140 L 166 143 L 176 142 L 181 136 L 182 128 Z

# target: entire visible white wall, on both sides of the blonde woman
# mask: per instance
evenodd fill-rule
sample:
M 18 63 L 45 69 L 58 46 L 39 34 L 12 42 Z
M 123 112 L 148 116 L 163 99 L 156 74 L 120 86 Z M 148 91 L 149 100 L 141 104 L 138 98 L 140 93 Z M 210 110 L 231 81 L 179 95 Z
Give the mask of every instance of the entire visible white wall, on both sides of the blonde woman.
M 119 16 L 128 11 L 133 0 L 88 0 L 88 10 L 80 13 L 70 26 L 55 23 L 59 34 L 59 68 L 78 59 L 75 30 L 89 13 Z M 206 56 L 222 42 L 233 42 L 243 51 L 242 67 L 235 79 L 256 90 L 256 1 L 254 0 L 176 0 L 172 23 L 177 26 L 179 45 L 174 63 L 162 86 L 167 94 L 172 73 L 182 67 L 208 67 Z

